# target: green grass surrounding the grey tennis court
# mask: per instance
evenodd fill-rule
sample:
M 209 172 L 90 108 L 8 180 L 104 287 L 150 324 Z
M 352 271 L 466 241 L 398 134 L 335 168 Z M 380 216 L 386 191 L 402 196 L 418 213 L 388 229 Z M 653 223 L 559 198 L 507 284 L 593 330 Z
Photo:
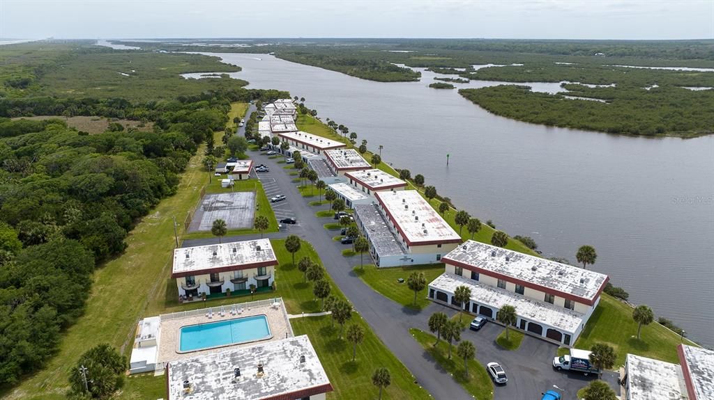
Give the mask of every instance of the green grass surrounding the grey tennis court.
M 208 184 L 206 186 L 206 194 L 213 194 L 213 193 L 226 193 L 229 191 L 256 191 L 256 214 L 255 216 L 265 216 L 268 219 L 268 229 L 263 232 L 277 232 L 278 231 L 278 220 L 275 218 L 275 214 L 273 214 L 273 208 L 270 206 L 270 201 L 268 200 L 268 196 L 266 196 L 265 191 L 263 190 L 263 184 L 261 181 L 258 181 L 258 179 L 243 179 L 241 181 L 233 181 L 233 189 L 231 188 L 224 188 L 221 187 L 221 178 L 220 177 L 214 177 L 214 179 L 211 179 L 211 184 Z M 198 206 L 198 201 L 196 202 L 196 206 Z M 231 236 L 231 235 L 246 235 L 249 233 L 260 233 L 257 229 L 254 228 L 245 228 L 245 229 L 229 229 L 228 233 L 226 233 L 226 236 Z M 181 236 L 183 239 L 197 239 L 197 238 L 210 238 L 213 237 L 213 233 L 211 231 L 205 231 L 205 232 L 193 232 L 193 233 L 185 233 L 183 236 Z

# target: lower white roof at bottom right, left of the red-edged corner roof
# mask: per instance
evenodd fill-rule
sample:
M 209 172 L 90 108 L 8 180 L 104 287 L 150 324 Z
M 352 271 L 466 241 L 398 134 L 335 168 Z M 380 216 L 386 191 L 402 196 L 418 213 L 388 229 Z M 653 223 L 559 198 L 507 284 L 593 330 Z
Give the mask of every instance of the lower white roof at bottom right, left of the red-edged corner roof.
M 682 368 L 677 364 L 628 354 L 625 372 L 630 400 L 688 399 Z

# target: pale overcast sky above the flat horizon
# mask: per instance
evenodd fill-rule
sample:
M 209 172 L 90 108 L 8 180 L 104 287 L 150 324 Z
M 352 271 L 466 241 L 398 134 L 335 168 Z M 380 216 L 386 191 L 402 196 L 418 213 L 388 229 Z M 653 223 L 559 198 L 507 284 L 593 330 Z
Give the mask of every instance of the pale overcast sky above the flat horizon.
M 714 38 L 714 0 L 0 0 L 0 38 Z

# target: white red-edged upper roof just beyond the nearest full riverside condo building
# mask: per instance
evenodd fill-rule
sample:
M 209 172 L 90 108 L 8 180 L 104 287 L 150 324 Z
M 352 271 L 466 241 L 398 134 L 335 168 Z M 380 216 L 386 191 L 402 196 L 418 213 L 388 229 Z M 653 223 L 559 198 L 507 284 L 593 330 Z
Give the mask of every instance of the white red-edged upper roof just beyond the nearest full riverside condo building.
M 461 236 L 418 191 L 377 191 L 374 196 L 409 246 L 461 242 Z

